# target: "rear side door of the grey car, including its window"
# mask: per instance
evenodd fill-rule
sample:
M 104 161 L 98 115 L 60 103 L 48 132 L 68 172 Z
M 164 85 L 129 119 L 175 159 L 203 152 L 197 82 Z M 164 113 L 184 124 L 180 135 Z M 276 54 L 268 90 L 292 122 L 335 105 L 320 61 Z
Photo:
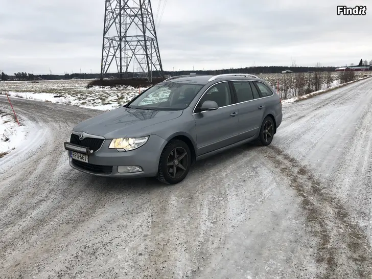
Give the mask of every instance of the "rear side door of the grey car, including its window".
M 243 80 L 231 81 L 231 83 L 239 110 L 238 130 L 242 140 L 255 135 L 260 129 L 265 111 L 265 100 L 261 98 L 252 82 Z

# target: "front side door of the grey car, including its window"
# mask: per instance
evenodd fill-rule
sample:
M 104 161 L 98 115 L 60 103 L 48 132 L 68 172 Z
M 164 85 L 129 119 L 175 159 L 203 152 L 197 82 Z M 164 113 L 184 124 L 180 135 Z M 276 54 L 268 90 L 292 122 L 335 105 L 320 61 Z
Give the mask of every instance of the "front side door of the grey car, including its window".
M 215 101 L 218 109 L 196 112 L 205 101 Z M 228 82 L 207 89 L 195 107 L 198 156 L 237 142 L 238 109 Z

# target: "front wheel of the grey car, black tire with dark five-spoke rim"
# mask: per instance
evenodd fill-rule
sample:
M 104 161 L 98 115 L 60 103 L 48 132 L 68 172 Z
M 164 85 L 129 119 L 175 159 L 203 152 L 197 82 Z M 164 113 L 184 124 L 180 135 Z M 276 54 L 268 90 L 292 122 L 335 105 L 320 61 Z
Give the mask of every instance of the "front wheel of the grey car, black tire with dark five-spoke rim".
M 177 159 L 174 157 L 175 150 Z M 178 161 L 180 156 L 182 158 Z M 167 163 L 170 164 L 171 162 L 173 162 L 173 165 L 168 166 Z M 191 152 L 189 146 L 185 142 L 175 139 L 170 141 L 161 152 L 157 179 L 162 183 L 177 184 L 188 175 L 190 166 Z M 176 170 L 175 175 L 174 169 Z

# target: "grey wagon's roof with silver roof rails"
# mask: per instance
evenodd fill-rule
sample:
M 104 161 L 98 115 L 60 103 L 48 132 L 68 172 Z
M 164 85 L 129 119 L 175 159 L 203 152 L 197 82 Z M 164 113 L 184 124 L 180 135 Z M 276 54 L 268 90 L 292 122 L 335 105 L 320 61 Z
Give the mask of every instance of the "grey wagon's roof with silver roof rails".
M 214 78 L 210 81 L 210 79 Z M 215 83 L 218 81 L 226 80 L 260 80 L 257 76 L 250 74 L 223 74 L 223 75 L 185 75 L 185 76 L 174 76 L 164 82 L 174 82 L 174 83 L 193 83 L 199 85 L 205 85 L 207 83 Z

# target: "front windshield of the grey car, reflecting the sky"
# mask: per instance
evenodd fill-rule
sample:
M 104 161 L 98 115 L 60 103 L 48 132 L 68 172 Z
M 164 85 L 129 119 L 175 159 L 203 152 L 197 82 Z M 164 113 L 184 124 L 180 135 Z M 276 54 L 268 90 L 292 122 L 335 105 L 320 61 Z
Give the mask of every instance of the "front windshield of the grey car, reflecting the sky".
M 154 110 L 181 110 L 187 108 L 203 85 L 159 83 L 127 104 L 130 108 Z

